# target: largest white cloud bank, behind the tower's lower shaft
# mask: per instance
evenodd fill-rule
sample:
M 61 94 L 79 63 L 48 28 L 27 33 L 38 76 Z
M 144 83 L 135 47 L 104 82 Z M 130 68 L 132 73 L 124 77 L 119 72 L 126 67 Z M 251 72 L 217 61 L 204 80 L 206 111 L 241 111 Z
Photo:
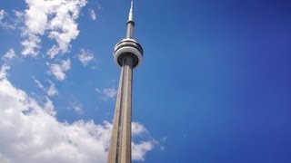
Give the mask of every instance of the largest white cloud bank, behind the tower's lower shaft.
M 0 161 L 104 163 L 112 124 L 104 121 L 59 122 L 52 101 L 36 101 L 0 70 Z M 133 159 L 144 160 L 152 140 L 133 143 Z

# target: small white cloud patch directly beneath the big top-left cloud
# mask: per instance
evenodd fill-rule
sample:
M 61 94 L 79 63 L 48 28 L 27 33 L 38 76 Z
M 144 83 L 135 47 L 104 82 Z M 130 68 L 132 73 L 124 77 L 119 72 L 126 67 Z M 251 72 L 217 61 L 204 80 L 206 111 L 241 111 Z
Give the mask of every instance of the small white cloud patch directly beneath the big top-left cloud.
M 64 81 L 66 78 L 65 72 L 71 69 L 71 61 L 70 59 L 64 60 L 61 64 L 49 64 L 50 73 L 53 74 L 58 81 Z

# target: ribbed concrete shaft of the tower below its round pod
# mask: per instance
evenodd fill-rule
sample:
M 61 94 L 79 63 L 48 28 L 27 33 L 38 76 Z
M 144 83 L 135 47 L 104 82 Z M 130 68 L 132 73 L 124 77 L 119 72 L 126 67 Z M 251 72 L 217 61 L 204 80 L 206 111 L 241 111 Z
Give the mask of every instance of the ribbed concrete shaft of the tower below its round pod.
M 121 69 L 108 163 L 131 162 L 132 79 L 133 59 L 127 55 Z

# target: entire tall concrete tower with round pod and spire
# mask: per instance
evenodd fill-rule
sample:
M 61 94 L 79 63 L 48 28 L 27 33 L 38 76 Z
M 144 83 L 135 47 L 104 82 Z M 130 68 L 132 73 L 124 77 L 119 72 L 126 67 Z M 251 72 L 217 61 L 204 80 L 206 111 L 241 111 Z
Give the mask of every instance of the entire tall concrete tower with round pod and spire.
M 135 26 L 133 0 L 126 26 L 126 38 L 117 43 L 114 50 L 114 60 L 117 66 L 121 67 L 121 74 L 107 163 L 131 162 L 133 69 L 141 64 L 144 53 L 143 47 L 133 39 Z

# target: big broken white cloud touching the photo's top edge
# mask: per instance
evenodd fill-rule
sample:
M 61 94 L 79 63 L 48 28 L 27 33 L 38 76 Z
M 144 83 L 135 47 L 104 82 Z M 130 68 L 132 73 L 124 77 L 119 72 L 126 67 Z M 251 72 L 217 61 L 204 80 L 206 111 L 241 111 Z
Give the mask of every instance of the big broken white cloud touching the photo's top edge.
M 70 43 L 79 34 L 77 23 L 79 12 L 86 0 L 25 0 L 25 28 L 22 35 L 24 55 L 36 56 L 41 47 L 40 36 L 55 40 L 47 54 L 54 58 L 58 53 L 67 53 Z

